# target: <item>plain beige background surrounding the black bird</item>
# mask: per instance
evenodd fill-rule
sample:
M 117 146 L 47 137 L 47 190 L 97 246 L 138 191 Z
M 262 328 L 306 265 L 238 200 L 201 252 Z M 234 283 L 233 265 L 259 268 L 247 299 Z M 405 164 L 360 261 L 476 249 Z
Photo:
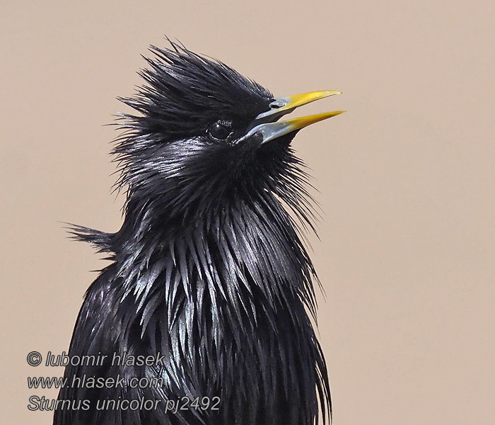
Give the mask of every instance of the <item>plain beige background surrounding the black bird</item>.
M 76 4 L 77 3 L 77 4 Z M 84 4 L 84 5 L 83 5 Z M 115 231 L 107 152 L 148 44 L 178 38 L 271 89 L 344 92 L 294 142 L 325 211 L 313 259 L 334 424 L 493 424 L 493 1 L 2 1 L 1 419 L 29 351 L 68 347 L 101 268 L 60 222 Z

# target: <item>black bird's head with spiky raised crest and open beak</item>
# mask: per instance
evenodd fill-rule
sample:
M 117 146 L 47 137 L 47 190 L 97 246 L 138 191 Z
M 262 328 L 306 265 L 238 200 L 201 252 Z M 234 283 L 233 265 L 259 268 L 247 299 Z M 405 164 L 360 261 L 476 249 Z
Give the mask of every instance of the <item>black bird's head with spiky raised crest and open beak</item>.
M 122 114 L 126 131 L 114 149 L 128 201 L 186 217 L 271 193 L 298 210 L 305 173 L 290 142 L 343 111 L 279 119 L 339 91 L 276 98 L 226 64 L 170 44 L 151 47 L 140 72 L 146 85 L 121 99 L 138 112 Z

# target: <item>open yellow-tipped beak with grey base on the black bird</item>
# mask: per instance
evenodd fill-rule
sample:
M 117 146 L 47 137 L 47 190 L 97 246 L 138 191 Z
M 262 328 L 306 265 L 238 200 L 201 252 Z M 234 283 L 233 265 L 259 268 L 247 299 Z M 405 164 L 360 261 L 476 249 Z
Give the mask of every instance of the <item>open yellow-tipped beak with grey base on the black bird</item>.
M 276 122 L 276 120 L 279 120 L 283 115 L 294 111 L 298 106 L 303 106 L 307 103 L 333 96 L 334 94 L 341 94 L 341 92 L 334 90 L 312 91 L 305 94 L 296 94 L 295 96 L 275 98 L 269 105 L 269 111 L 257 115 L 252 123 L 252 128 L 245 137 L 258 133 L 263 137 L 262 143 L 266 143 L 270 140 L 289 134 L 290 132 L 301 130 L 301 128 L 305 128 L 310 124 L 318 123 L 318 121 L 326 120 L 327 118 L 332 118 L 335 115 L 344 113 L 345 111 L 325 112 Z

